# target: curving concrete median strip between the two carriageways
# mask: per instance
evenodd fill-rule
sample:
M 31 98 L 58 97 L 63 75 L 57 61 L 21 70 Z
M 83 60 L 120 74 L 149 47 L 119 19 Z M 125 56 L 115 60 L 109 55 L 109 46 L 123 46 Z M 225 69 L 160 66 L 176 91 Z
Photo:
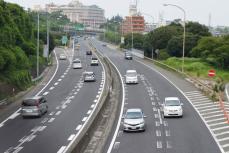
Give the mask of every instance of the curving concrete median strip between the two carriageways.
M 119 106 L 121 89 L 118 84 L 120 81 L 118 74 L 109 60 L 97 52 L 92 44 L 90 46 L 104 66 L 106 74 L 104 89 L 91 116 L 75 139 L 66 147 L 65 153 L 102 152 Z

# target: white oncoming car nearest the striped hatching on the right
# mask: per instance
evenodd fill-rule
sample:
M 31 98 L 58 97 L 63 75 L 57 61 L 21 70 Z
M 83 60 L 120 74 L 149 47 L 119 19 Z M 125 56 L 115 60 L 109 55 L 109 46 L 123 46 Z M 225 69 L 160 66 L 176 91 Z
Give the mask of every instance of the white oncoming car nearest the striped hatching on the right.
M 166 97 L 163 106 L 164 117 L 169 116 L 183 116 L 183 103 L 178 97 Z

